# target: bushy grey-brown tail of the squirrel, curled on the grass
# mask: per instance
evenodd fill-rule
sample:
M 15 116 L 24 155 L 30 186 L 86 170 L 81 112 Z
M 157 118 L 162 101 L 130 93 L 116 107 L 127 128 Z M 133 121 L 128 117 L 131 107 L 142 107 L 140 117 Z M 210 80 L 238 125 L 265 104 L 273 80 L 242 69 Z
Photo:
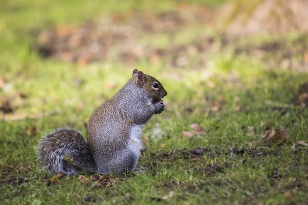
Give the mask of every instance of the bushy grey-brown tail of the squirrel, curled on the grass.
M 73 129 L 56 129 L 37 144 L 37 158 L 51 174 L 78 174 L 85 170 L 97 172 L 83 136 Z

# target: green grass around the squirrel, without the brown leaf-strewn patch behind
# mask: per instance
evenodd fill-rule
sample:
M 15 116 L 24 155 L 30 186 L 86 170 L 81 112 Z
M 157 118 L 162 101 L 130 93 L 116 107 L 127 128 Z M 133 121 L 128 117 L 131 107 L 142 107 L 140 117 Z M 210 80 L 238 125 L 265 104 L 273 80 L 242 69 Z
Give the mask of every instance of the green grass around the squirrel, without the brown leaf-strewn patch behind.
M 0 96 L 12 99 L 14 112 L 6 116 L 29 117 L 0 121 L 2 204 L 305 204 L 308 149 L 297 141 L 307 143 L 308 111 L 299 113 L 293 99 L 297 100 L 299 87 L 306 83 L 306 73 L 268 65 L 254 55 L 237 54 L 237 42 L 210 52 L 207 66 L 200 69 L 170 68 L 164 62 L 153 65 L 146 60 L 132 66 L 108 61 L 78 66 L 43 59 L 32 49 L 33 29 L 79 25 L 105 13 L 154 7 L 161 11 L 176 5 L 171 1 L 98 4 L 5 1 L 1 8 L 0 77 L 5 88 L 0 89 Z M 188 44 L 191 36 L 202 32 L 220 37 L 214 31 L 194 28 L 196 25 L 179 31 L 176 44 Z M 156 36 L 162 41 L 153 42 Z M 241 39 L 239 45 L 262 45 L 277 38 L 293 45 L 296 36 L 300 34 L 255 36 Z M 169 46 L 164 33 L 145 34 L 140 42 Z M 295 59 L 300 61 L 301 56 Z M 148 170 L 141 175 L 102 178 L 46 175 L 36 161 L 37 141 L 66 126 L 86 136 L 84 124 L 93 110 L 126 83 L 134 68 L 158 78 L 168 91 L 165 111 L 153 116 L 143 130 L 145 150 L 139 165 Z M 213 111 L 215 106 L 218 111 Z M 31 119 L 50 112 L 55 114 Z M 189 131 L 193 123 L 207 134 L 185 137 L 182 131 Z M 255 128 L 253 134 L 248 126 Z M 268 128 L 285 128 L 290 138 L 281 145 L 258 149 L 245 145 L 258 140 Z M 230 154 L 230 147 L 241 151 Z M 196 148 L 204 149 L 201 155 L 193 150 Z

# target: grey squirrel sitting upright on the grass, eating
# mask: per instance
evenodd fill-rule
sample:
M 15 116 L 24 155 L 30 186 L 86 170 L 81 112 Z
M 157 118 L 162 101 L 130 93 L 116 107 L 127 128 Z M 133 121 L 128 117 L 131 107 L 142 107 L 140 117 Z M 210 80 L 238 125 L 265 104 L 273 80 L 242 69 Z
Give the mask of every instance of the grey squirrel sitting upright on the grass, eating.
M 134 69 L 126 85 L 90 116 L 87 142 L 76 130 L 56 129 L 38 142 L 38 161 L 51 174 L 136 171 L 142 128 L 153 114 L 164 111 L 166 95 L 157 79 Z

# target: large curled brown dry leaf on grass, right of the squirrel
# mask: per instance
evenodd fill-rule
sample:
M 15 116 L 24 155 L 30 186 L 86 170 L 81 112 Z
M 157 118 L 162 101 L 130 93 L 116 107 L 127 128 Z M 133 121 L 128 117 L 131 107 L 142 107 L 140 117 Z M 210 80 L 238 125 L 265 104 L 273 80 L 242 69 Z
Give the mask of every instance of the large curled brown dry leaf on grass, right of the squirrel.
M 287 131 L 285 129 L 267 130 L 260 139 L 256 142 L 249 142 L 248 145 L 257 146 L 266 143 L 280 144 L 288 138 Z

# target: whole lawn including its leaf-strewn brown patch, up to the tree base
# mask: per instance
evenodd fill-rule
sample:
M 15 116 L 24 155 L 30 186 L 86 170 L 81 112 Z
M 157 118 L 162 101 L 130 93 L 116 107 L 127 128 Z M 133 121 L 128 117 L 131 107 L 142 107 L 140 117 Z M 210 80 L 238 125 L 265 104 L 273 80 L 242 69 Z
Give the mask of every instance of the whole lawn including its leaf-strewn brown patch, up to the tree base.
M 1 204 L 305 204 L 308 35 L 228 36 L 204 22 L 221 2 L 3 1 Z M 135 68 L 168 92 L 143 129 L 146 172 L 47 175 L 41 137 L 86 137 Z M 249 144 L 277 129 L 282 143 Z

